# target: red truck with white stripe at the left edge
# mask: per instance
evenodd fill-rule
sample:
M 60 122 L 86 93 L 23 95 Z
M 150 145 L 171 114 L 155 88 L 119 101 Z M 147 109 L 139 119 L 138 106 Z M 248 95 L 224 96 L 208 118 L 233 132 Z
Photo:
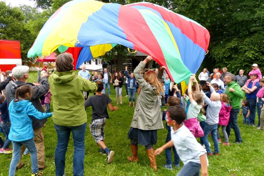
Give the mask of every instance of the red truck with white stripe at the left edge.
M 0 69 L 12 70 L 21 65 L 20 41 L 0 39 Z

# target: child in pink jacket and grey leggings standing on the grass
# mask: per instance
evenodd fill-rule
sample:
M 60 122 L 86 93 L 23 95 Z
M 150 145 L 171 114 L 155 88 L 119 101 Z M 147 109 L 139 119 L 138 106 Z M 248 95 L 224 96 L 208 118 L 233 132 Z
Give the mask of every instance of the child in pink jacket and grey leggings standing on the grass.
M 230 116 L 230 111 L 231 111 L 232 106 L 229 104 L 229 98 L 227 94 L 221 94 L 220 96 L 221 96 L 220 101 L 222 103 L 222 108 L 219 112 L 219 122 L 218 122 L 217 130 L 216 130 L 217 139 L 218 139 L 218 143 L 221 143 L 219 127 L 222 125 L 222 133 L 225 138 L 225 142 L 223 143 L 223 145 L 229 146 L 226 127 L 229 122 L 229 116 Z

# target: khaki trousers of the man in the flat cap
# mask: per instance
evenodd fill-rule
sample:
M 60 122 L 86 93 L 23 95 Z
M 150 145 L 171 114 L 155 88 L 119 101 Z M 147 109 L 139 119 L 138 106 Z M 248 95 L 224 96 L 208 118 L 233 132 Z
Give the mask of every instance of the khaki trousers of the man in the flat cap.
M 37 148 L 37 164 L 38 164 L 38 168 L 43 168 L 45 166 L 45 146 L 44 146 L 44 135 L 42 133 L 42 127 L 34 130 L 35 133 L 35 137 L 34 137 L 34 141 L 35 141 L 35 146 Z M 22 145 L 21 146 L 21 156 L 20 156 L 20 160 L 17 163 L 17 167 L 21 167 L 21 159 L 22 159 L 22 155 L 24 153 L 24 151 L 26 150 L 26 146 Z

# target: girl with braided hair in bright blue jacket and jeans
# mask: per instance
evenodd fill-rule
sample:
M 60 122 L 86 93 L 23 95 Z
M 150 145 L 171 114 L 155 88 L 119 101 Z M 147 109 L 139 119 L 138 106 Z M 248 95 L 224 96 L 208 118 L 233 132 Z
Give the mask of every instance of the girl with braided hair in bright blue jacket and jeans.
M 16 166 L 20 159 L 20 149 L 24 144 L 31 157 L 32 176 L 42 176 L 43 171 L 38 169 L 37 148 L 34 142 L 34 131 L 31 116 L 41 120 L 52 116 L 52 113 L 41 113 L 29 101 L 32 97 L 30 86 L 17 88 L 15 99 L 9 104 L 11 128 L 8 138 L 13 144 L 13 157 L 9 167 L 9 176 L 15 175 Z

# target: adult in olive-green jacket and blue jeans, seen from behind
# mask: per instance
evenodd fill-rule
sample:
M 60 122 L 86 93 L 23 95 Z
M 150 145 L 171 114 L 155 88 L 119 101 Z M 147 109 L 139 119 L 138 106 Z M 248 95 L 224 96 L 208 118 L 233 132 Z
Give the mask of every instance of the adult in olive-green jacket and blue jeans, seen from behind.
M 82 91 L 94 93 L 98 85 L 75 75 L 73 58 L 69 53 L 58 55 L 55 64 L 56 70 L 49 78 L 51 94 L 53 95 L 52 119 L 58 138 L 55 149 L 55 173 L 57 176 L 64 175 L 65 154 L 72 133 L 74 146 L 73 175 L 82 176 L 87 125 Z

